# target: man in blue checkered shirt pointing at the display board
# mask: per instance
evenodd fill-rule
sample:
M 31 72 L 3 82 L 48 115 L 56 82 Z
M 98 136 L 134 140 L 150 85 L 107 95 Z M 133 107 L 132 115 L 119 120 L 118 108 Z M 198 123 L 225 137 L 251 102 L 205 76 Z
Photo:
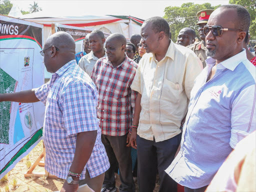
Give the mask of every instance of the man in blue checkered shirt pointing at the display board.
M 51 79 L 39 88 L 0 94 L 0 101 L 43 102 L 45 169 L 66 179 L 61 191 L 76 191 L 78 183 L 100 191 L 109 161 L 100 139 L 97 89 L 76 64 L 68 33 L 51 35 L 40 53 Z

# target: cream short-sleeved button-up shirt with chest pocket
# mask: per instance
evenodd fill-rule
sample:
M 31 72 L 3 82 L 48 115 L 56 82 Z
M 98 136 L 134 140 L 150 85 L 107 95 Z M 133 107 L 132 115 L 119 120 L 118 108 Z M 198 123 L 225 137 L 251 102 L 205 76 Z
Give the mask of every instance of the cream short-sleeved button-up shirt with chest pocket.
M 159 142 L 180 133 L 200 65 L 192 50 L 172 41 L 159 62 L 152 53 L 142 56 L 130 86 L 141 94 L 137 128 L 140 137 Z

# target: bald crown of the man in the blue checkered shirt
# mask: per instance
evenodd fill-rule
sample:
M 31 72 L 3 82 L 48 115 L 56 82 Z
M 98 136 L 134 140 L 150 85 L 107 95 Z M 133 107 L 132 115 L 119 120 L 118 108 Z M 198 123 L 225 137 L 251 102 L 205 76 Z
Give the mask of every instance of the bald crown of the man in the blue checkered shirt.
M 55 32 L 54 34 L 50 35 L 44 46 L 55 46 L 59 50 L 65 50 L 68 52 L 75 53 L 75 42 L 73 37 L 64 31 Z M 62 51 L 61 51 L 62 52 Z

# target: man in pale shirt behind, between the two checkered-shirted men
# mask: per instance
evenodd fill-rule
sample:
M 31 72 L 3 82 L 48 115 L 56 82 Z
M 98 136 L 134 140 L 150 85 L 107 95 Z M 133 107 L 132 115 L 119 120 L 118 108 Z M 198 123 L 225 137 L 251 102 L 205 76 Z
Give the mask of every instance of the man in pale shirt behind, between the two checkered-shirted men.
M 96 29 L 91 31 L 89 34 L 89 45 L 91 51 L 84 55 L 78 63 L 81 69 L 84 70 L 89 76 L 91 75 L 96 61 L 99 58 L 106 56 L 104 42 L 105 37 L 102 31 Z

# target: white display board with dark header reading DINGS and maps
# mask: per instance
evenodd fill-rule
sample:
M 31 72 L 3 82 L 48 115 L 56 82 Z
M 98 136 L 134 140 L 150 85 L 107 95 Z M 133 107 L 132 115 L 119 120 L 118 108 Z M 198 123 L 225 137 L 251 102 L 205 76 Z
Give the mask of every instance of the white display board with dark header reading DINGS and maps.
M 0 93 L 44 83 L 43 25 L 0 15 Z M 41 102 L 0 102 L 0 178 L 41 139 Z

